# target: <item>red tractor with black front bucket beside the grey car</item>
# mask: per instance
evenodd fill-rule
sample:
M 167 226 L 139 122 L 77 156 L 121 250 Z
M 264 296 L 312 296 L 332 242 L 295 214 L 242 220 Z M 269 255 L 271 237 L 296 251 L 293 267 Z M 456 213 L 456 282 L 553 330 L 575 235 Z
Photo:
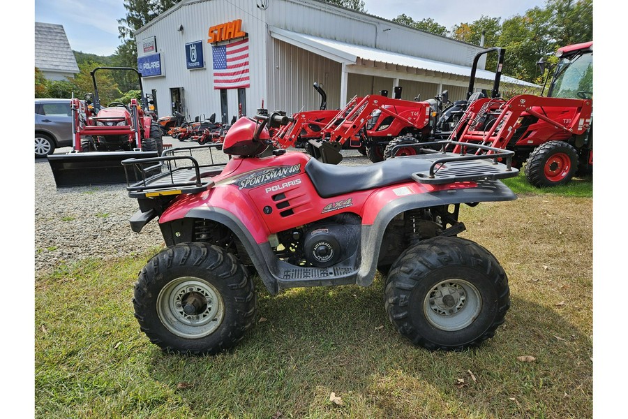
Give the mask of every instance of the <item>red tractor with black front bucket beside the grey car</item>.
M 137 75 L 142 98 L 142 75 L 135 68 L 97 67 L 90 72 L 94 93 L 73 98 L 73 151 L 48 156 L 57 187 L 126 182 L 121 161 L 156 157 L 163 151 L 162 130 L 147 103 L 100 103 L 96 73 L 118 71 Z

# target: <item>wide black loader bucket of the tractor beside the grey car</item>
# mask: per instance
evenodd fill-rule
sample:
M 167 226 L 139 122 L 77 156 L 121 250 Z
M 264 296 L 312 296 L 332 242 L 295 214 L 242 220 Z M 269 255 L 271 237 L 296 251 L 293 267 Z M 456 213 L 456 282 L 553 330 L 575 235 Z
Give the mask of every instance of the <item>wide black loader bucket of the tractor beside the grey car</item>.
M 48 162 L 57 188 L 126 184 L 121 161 L 126 159 L 158 157 L 157 152 L 89 152 L 51 154 Z

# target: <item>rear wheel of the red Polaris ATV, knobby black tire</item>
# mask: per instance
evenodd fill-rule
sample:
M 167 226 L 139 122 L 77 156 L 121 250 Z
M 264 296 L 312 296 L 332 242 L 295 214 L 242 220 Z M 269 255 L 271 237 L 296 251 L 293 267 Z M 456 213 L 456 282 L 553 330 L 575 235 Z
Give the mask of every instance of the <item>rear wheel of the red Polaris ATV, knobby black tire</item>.
M 495 335 L 509 293 L 506 273 L 488 250 L 441 236 L 414 244 L 393 263 L 384 304 L 414 345 L 462 351 Z

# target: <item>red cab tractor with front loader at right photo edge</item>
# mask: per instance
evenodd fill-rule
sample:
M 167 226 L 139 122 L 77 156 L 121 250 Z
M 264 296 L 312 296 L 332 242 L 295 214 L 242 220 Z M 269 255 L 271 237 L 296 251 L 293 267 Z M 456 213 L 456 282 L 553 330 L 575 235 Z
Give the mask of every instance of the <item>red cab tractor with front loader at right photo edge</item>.
M 450 138 L 514 151 L 513 165 L 527 162 L 525 176 L 538 187 L 566 184 L 576 171 L 590 171 L 593 43 L 562 47 L 556 56 L 547 96 L 474 101 Z

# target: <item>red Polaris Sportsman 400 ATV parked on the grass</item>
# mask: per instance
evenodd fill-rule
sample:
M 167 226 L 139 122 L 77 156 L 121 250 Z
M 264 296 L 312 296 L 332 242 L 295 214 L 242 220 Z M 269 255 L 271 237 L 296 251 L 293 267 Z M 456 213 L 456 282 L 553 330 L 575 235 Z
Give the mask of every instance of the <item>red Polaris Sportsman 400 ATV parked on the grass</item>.
M 512 152 L 452 154 L 451 142 L 429 142 L 414 156 L 334 166 L 271 149 L 267 126 L 289 121 L 285 112 L 240 118 L 225 137 L 226 164 L 190 155 L 216 145 L 123 162 L 130 176 L 147 173 L 128 180 L 140 206 L 131 228 L 158 218 L 167 244 L 135 284 L 149 339 L 178 353 L 234 346 L 254 323 L 255 272 L 271 294 L 369 286 L 380 272 L 389 318 L 414 344 L 461 350 L 493 337 L 510 306 L 507 275 L 484 247 L 456 237 L 458 212 L 516 199 L 498 180 L 517 175 Z

